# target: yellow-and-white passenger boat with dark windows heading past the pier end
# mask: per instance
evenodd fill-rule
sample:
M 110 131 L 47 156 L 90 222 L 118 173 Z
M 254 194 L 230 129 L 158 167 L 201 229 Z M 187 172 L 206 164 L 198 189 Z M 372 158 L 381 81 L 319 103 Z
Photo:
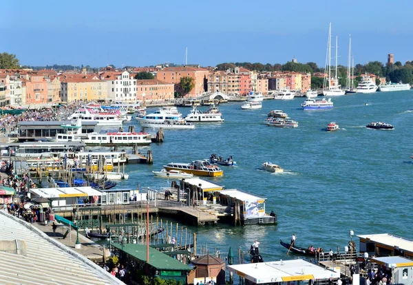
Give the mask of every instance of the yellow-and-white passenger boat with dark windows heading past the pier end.
M 215 165 L 211 165 L 207 160 L 195 160 L 191 163 L 168 163 L 163 166 L 167 171 L 179 170 L 192 173 L 196 176 L 222 176 L 224 171 Z

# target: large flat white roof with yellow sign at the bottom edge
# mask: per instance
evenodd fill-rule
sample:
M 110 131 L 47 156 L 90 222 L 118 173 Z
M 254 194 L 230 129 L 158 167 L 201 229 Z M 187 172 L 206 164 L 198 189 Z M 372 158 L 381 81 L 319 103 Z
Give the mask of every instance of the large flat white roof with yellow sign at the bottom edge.
M 340 271 L 331 271 L 305 260 L 235 264 L 228 268 L 230 272 L 255 284 L 340 277 Z

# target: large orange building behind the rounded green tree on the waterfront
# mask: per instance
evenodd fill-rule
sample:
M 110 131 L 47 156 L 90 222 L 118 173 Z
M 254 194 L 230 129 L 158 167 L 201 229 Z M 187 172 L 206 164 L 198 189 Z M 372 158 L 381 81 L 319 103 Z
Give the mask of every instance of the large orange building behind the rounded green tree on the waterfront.
M 196 97 L 205 92 L 204 83 L 208 80 L 209 70 L 200 67 L 166 67 L 158 70 L 156 78 L 160 81 L 180 83 L 180 78 L 189 76 L 193 78 L 195 87 L 185 97 Z

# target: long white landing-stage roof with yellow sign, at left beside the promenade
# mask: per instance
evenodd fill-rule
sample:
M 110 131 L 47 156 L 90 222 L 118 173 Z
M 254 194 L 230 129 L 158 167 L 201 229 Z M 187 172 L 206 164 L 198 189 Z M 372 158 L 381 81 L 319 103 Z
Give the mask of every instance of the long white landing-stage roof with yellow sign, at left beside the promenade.
M 31 188 L 30 193 L 43 198 L 102 196 L 102 192 L 92 187 Z

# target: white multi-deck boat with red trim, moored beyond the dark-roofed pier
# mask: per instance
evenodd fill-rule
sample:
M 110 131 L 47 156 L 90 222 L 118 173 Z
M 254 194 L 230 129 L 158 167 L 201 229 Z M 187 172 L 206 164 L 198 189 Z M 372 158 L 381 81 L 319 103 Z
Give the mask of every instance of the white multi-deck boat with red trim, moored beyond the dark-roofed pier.
M 69 120 L 79 120 L 83 122 L 97 122 L 98 125 L 106 127 L 121 127 L 123 119 L 120 117 L 118 111 L 115 112 L 97 112 L 93 109 L 80 108 L 77 109 L 72 115 L 69 116 Z

